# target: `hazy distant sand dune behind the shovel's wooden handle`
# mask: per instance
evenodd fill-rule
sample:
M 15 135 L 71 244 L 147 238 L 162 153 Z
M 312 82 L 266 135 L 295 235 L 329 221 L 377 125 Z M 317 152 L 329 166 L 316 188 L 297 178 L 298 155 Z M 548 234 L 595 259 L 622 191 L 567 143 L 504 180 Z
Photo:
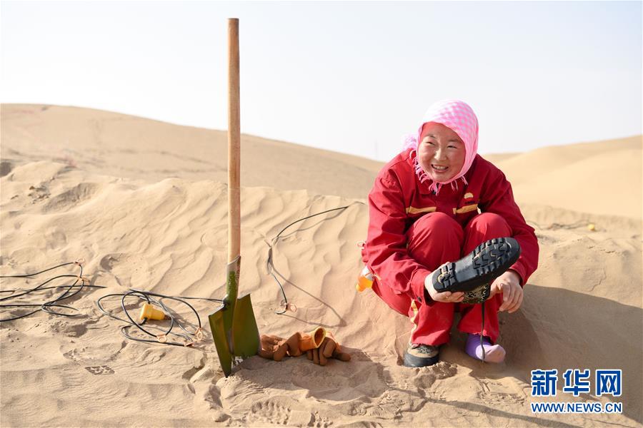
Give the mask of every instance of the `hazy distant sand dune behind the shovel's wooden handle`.
M 89 108 L 1 105 L 3 161 L 59 161 L 155 182 L 227 180 L 227 133 Z M 362 198 L 382 163 L 241 136 L 241 185 Z M 342 173 L 342 180 L 337 179 Z

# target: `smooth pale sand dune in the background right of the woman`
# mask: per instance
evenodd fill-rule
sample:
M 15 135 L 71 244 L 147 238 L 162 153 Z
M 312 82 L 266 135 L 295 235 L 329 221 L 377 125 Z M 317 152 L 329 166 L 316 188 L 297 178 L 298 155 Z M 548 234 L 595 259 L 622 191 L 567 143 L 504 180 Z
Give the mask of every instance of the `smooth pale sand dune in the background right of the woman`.
M 539 148 L 497 161 L 519 202 L 642 218 L 641 136 Z

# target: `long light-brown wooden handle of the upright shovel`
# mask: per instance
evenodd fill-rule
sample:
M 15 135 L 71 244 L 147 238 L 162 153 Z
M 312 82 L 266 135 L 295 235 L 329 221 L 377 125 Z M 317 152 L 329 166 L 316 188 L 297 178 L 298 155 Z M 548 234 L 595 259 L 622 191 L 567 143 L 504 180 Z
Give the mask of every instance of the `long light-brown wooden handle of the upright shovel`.
M 239 19 L 228 19 L 228 263 L 240 253 L 241 113 L 239 106 Z

